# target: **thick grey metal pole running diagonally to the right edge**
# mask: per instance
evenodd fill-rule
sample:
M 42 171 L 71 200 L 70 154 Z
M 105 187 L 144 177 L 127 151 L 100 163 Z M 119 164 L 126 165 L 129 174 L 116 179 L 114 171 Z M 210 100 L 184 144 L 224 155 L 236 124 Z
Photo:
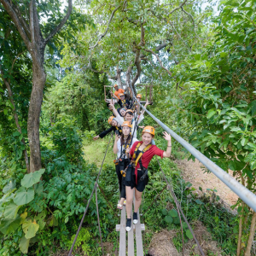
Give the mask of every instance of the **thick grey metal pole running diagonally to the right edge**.
M 132 88 L 131 88 L 132 90 Z M 135 97 L 137 101 L 137 98 Z M 192 145 L 183 140 L 182 137 L 179 137 L 174 131 L 172 131 L 168 126 L 157 119 L 154 114 L 150 113 L 143 105 L 137 101 L 138 104 L 142 106 L 142 108 L 171 136 L 180 143 L 184 148 L 186 148 L 191 154 L 195 156 L 197 160 L 200 160 L 201 163 L 207 167 L 209 171 L 211 171 L 215 176 L 217 176 L 223 183 L 225 183 L 233 192 L 238 195 L 242 201 L 244 201 L 248 207 L 253 208 L 254 212 L 256 212 L 256 195 L 253 194 L 249 189 L 244 187 L 241 183 L 239 183 L 236 178 L 231 177 L 230 174 L 225 172 L 219 166 L 209 160 L 204 154 L 201 154 L 200 151 L 195 149 Z

